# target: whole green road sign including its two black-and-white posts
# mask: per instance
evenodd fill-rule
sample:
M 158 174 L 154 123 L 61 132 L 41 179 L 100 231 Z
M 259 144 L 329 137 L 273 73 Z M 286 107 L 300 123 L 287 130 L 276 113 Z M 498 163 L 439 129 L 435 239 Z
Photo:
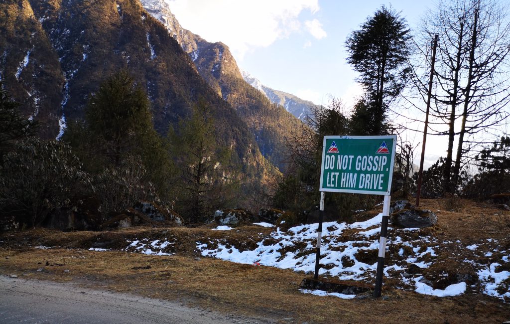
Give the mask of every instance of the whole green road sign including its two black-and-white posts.
M 397 136 L 324 136 L 314 278 L 318 279 L 325 192 L 384 195 L 374 297 L 380 297 Z

